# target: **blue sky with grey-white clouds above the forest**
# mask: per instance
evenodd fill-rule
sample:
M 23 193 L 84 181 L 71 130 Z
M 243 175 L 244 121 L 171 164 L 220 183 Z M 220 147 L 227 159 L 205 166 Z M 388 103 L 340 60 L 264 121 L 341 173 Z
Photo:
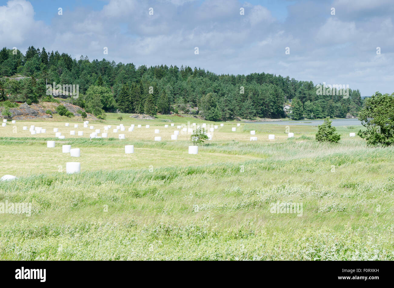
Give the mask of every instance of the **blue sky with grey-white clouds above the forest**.
M 0 46 L 266 72 L 370 96 L 394 92 L 393 15 L 393 0 L 0 0 Z

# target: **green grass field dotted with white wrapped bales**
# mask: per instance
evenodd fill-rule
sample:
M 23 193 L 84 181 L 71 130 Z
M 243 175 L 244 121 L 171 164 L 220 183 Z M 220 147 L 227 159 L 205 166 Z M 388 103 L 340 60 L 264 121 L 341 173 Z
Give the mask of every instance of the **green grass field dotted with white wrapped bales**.
M 58 115 L 0 127 L 0 176 L 18 177 L 0 182 L 0 203 L 32 203 L 30 217 L 0 214 L 0 259 L 394 259 L 394 148 L 350 138 L 361 126 L 337 127 L 340 142 L 321 144 L 313 126 L 290 126 L 295 137 L 287 138 L 282 125 L 242 123 L 232 132 L 237 122 L 224 122 L 189 155 L 190 135 L 170 135 L 201 121 L 117 116 L 89 126 L 123 123 L 125 140 L 112 128 L 109 138 L 89 140 L 82 120 Z M 130 124 L 143 127 L 128 132 Z M 30 125 L 47 132 L 22 130 Z M 250 130 L 258 141 L 249 141 Z M 56 147 L 46 148 L 47 140 Z M 62 144 L 80 148 L 81 157 L 61 153 Z M 124 153 L 128 144 L 134 154 Z M 81 173 L 66 174 L 74 161 Z M 302 203 L 302 216 L 271 213 L 277 201 Z

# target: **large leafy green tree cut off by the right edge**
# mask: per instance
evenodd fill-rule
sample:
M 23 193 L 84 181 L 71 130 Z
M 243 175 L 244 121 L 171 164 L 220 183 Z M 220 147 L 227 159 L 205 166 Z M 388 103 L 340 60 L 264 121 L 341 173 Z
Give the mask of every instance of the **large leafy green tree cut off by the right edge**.
M 376 92 L 365 100 L 365 106 L 359 113 L 359 119 L 366 131 L 357 135 L 364 138 L 368 145 L 389 146 L 394 143 L 394 93 Z

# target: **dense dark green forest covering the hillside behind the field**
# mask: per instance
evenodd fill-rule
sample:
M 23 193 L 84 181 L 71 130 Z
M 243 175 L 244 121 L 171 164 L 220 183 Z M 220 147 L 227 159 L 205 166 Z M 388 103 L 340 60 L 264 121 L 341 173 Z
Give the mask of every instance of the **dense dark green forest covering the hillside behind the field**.
M 312 81 L 264 72 L 217 75 L 183 65 L 136 67 L 106 59 L 89 61 L 87 56 L 76 60 L 67 53 L 33 46 L 26 54 L 16 48 L 0 50 L 0 102 L 57 101 L 47 95 L 51 93 L 46 83 L 79 85 L 79 97 L 68 100 L 99 118 L 114 111 L 149 115 L 182 112 L 211 121 L 341 118 L 348 113 L 357 116 L 363 103 L 358 89 L 349 89 L 349 97 L 337 95 L 335 89 L 331 95 L 317 95 Z M 286 103 L 292 106 L 288 115 L 283 109 Z

